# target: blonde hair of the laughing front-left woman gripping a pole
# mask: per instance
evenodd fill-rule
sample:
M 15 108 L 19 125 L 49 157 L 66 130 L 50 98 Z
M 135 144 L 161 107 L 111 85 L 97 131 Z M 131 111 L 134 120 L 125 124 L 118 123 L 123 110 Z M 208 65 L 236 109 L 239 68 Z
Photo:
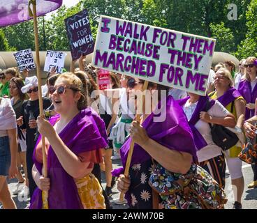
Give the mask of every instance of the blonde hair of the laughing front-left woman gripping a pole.
M 85 109 L 87 107 L 87 86 L 83 86 L 83 83 L 77 75 L 73 74 L 72 72 L 64 72 L 63 74 L 59 75 L 57 80 L 65 79 L 68 82 L 68 85 L 73 89 L 77 89 L 80 93 L 80 100 L 78 100 L 77 107 L 79 110 Z

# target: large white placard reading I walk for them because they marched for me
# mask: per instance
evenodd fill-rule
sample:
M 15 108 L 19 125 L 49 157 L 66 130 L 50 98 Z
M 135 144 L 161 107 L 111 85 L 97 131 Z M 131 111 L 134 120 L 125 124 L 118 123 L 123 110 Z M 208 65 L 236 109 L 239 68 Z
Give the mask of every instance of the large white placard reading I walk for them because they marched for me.
M 98 68 L 205 95 L 216 40 L 101 15 Z

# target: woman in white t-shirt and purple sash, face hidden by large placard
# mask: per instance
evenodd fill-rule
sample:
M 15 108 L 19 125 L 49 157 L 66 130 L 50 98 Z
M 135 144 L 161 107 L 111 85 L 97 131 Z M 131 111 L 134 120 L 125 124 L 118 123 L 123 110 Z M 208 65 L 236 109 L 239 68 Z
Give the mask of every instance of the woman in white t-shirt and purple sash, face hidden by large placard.
M 220 102 L 210 100 L 208 96 L 189 93 L 189 97 L 178 102 L 193 132 L 198 165 L 203 167 L 221 187 L 225 188 L 226 162 L 221 148 L 212 141 L 209 123 L 233 128 L 235 117 Z

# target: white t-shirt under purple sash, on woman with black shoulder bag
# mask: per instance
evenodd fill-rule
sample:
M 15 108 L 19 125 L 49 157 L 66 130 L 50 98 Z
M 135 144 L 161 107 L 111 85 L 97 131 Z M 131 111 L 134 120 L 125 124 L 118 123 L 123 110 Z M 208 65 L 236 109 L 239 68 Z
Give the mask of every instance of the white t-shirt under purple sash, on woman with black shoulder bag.
M 198 102 L 189 105 L 189 100 L 183 106 L 183 110 L 186 114 L 188 120 L 190 120 L 194 110 L 196 109 L 196 105 Z M 208 114 L 212 117 L 223 118 L 228 116 L 228 110 L 221 105 L 221 103 L 215 100 L 214 105 L 208 110 Z M 211 129 L 208 123 L 205 121 L 199 120 L 196 125 L 196 129 L 202 134 L 205 139 L 207 146 L 202 148 L 200 151 L 197 151 L 198 162 L 203 162 L 205 160 L 210 160 L 213 157 L 221 155 L 221 148 L 214 144 L 212 141 Z

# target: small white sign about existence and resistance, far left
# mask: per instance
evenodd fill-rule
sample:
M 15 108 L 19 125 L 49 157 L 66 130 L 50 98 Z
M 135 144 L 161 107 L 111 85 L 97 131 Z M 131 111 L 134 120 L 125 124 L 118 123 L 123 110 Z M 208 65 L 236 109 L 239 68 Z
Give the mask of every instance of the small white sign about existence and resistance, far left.
M 31 49 L 24 49 L 13 55 L 15 57 L 15 60 L 17 62 L 17 67 L 20 72 L 22 72 L 22 70 L 24 69 L 27 69 L 27 70 L 36 69 Z

